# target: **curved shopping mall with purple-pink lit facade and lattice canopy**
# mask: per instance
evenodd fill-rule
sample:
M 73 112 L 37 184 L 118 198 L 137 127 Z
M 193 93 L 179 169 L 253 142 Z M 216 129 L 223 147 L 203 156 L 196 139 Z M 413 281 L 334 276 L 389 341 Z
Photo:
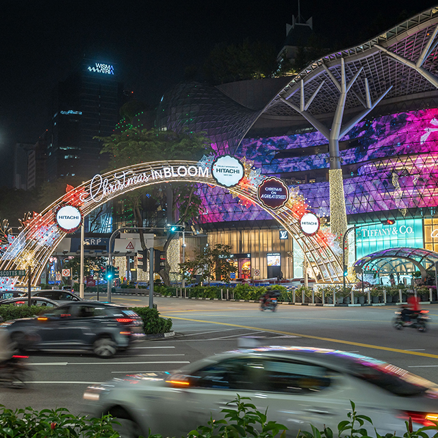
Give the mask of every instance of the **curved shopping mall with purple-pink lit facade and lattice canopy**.
M 164 94 L 157 127 L 205 131 L 216 155 L 283 179 L 337 235 L 360 225 L 350 266 L 384 248 L 438 251 L 437 31 L 431 8 L 294 77 L 180 83 Z M 294 235 L 261 207 L 219 187 L 198 194 L 195 228 L 231 246 L 237 276 L 303 276 Z

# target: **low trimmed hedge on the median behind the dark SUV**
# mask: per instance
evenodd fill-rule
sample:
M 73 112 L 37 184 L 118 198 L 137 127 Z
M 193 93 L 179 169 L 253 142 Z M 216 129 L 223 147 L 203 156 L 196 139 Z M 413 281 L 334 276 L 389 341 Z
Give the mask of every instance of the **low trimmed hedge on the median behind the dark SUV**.
M 144 333 L 146 335 L 156 333 L 167 333 L 172 330 L 172 320 L 170 318 L 162 318 L 159 316 L 157 309 L 149 309 L 149 307 L 129 307 L 129 310 L 135 311 L 140 315 L 144 322 Z M 31 318 L 42 313 L 50 313 L 47 307 L 41 306 L 0 306 L 0 316 L 3 321 L 16 320 L 18 318 Z

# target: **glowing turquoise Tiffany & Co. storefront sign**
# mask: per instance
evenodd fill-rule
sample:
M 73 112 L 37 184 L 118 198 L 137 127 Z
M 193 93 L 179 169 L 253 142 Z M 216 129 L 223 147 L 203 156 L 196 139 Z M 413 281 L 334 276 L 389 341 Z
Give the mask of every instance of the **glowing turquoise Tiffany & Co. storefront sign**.
M 402 219 L 395 224 L 370 224 L 356 230 L 356 258 L 387 248 L 423 248 L 422 219 Z

